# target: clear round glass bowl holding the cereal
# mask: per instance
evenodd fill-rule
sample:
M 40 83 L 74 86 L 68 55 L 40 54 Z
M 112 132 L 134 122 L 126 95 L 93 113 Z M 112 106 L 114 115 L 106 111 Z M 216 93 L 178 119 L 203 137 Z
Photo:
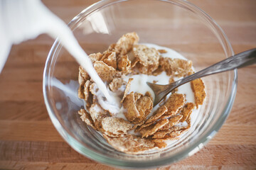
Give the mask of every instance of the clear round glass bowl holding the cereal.
M 188 1 L 100 1 L 75 16 L 68 26 L 87 54 L 103 52 L 124 33 L 135 31 L 140 42 L 170 47 L 192 60 L 196 70 L 233 55 L 223 30 Z M 80 120 L 78 63 L 58 40 L 46 61 L 43 95 L 53 125 L 76 151 L 111 166 L 149 168 L 198 152 L 223 125 L 235 99 L 237 71 L 215 74 L 203 81 L 207 98 L 191 130 L 161 152 L 140 155 L 118 152 Z

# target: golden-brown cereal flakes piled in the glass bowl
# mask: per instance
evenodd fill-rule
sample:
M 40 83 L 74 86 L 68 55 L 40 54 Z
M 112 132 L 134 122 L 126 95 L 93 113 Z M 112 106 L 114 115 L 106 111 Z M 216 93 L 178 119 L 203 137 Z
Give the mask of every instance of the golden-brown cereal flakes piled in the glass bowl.
M 112 95 L 117 96 L 119 110 L 102 106 L 105 99 L 99 96 L 97 84 L 82 67 L 78 74 L 78 96 L 85 101 L 85 108 L 78 111 L 81 120 L 100 132 L 114 149 L 127 154 L 161 149 L 168 146 L 167 140 L 178 140 L 191 128 L 193 109 L 202 105 L 206 98 L 203 81 L 197 79 L 191 81 L 194 103 L 188 102 L 186 94 L 179 94 L 175 89 L 153 109 L 154 94 L 144 91 L 143 86 L 141 91 L 135 91 L 134 87 L 139 88 L 135 85 L 143 77 L 164 76 L 169 83 L 174 82 L 193 73 L 192 62 L 163 57 L 168 54 L 166 50 L 138 42 L 137 33 L 127 33 L 105 52 L 89 55 L 97 74 Z M 138 76 L 142 77 L 135 78 Z M 160 80 L 154 79 L 154 83 Z

